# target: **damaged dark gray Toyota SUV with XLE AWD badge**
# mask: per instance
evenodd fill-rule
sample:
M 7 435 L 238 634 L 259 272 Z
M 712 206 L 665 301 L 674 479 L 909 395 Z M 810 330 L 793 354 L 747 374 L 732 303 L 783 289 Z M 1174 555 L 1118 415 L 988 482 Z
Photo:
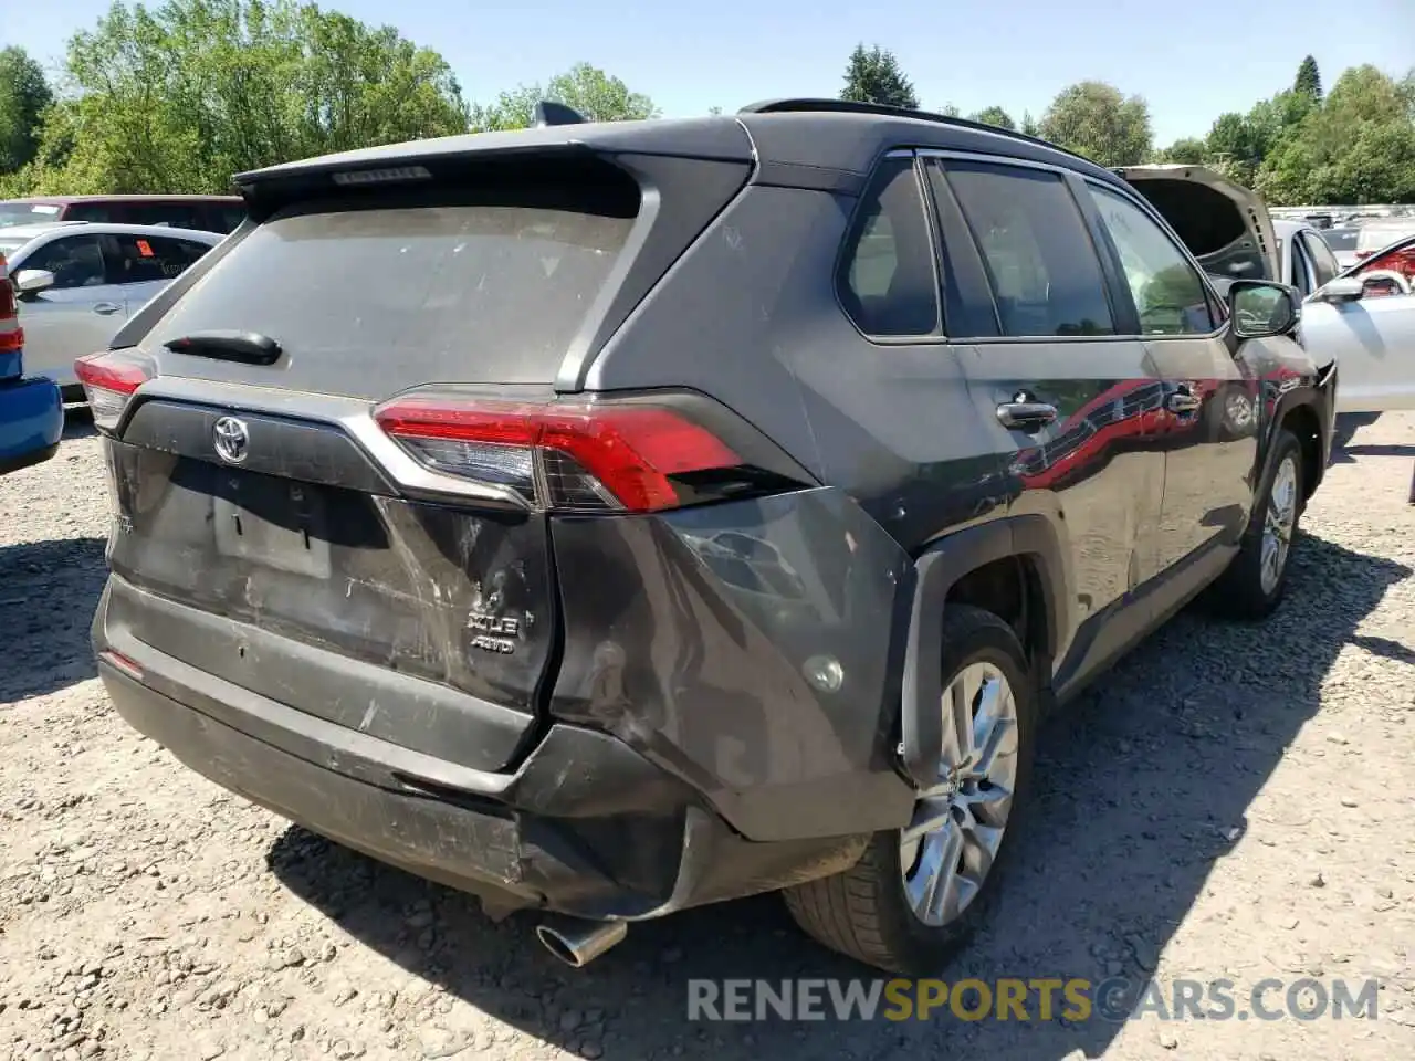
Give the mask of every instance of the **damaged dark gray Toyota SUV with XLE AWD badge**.
M 1030 137 L 543 119 L 241 175 L 81 359 L 112 700 L 574 965 L 781 890 L 937 969 L 1039 719 L 1208 587 L 1276 605 L 1336 369 Z

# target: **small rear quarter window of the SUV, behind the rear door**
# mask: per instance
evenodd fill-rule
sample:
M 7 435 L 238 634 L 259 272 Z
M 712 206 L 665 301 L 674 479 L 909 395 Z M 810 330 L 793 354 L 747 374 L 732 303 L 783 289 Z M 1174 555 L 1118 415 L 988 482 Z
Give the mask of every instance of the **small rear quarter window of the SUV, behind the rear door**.
M 846 238 L 841 303 L 866 335 L 938 330 L 934 245 L 913 158 L 886 158 Z

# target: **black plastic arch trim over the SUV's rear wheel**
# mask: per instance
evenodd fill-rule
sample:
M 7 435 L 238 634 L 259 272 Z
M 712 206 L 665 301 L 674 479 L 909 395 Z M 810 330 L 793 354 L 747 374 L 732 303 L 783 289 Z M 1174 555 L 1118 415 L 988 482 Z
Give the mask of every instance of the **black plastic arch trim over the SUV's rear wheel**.
M 969 572 L 1016 557 L 1033 566 L 1040 590 L 1040 621 L 1033 625 L 1033 673 L 1051 678 L 1051 659 L 1063 635 L 1064 566 L 1051 522 L 1041 515 L 1003 516 L 930 543 L 914 562 L 900 712 L 900 765 L 918 787 L 937 782 L 944 747 L 940 700 L 944 695 L 942 638 L 948 593 Z

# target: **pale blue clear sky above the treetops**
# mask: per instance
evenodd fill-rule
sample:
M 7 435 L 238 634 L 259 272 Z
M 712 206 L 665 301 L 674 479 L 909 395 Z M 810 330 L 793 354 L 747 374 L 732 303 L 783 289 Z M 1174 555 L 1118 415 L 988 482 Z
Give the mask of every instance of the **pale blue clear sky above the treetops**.
M 160 0 L 158 0 L 160 1 Z M 108 0 L 0 0 L 0 45 L 58 66 Z M 156 4 L 150 4 L 156 6 Z M 893 51 L 920 105 L 965 115 L 1000 105 L 1040 116 L 1084 79 L 1145 96 L 1155 140 L 1203 136 L 1215 116 L 1289 88 L 1307 54 L 1323 83 L 1370 62 L 1415 68 L 1415 0 L 894 0 L 870 14 L 842 0 L 325 0 L 392 23 L 443 54 L 470 100 L 590 62 L 644 92 L 665 117 L 774 96 L 835 96 L 857 42 Z M 1129 16 L 1121 11 L 1129 8 Z M 887 11 L 887 14 L 884 14 Z

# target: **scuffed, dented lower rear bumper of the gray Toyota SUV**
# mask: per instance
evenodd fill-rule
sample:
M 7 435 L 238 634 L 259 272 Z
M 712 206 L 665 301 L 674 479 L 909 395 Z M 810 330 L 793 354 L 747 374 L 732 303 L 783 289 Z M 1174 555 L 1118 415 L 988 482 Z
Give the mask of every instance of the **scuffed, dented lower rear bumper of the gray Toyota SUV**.
M 93 621 L 119 714 L 208 779 L 375 859 L 481 895 L 638 920 L 843 869 L 865 836 L 753 843 L 624 741 L 552 724 L 514 772 L 467 768 L 282 705 Z

